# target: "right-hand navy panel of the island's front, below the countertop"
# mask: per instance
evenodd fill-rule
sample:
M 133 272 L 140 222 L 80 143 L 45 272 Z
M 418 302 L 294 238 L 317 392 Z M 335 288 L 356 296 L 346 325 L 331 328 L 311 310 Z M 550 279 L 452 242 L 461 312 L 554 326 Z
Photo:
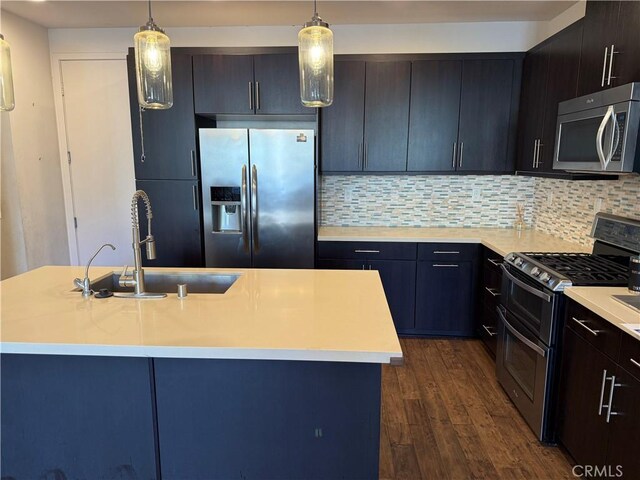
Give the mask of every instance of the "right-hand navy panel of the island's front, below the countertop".
M 378 478 L 380 365 L 155 359 L 163 480 Z

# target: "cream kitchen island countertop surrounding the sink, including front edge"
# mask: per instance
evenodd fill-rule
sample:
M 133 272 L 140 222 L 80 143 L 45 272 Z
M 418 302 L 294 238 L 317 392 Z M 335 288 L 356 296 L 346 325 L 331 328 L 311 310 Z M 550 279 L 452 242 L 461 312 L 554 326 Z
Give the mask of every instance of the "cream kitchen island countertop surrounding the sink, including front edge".
M 83 298 L 84 267 L 41 267 L 1 283 L 2 353 L 399 363 L 372 271 L 147 268 L 240 274 L 224 294 Z M 119 271 L 92 267 L 92 281 Z

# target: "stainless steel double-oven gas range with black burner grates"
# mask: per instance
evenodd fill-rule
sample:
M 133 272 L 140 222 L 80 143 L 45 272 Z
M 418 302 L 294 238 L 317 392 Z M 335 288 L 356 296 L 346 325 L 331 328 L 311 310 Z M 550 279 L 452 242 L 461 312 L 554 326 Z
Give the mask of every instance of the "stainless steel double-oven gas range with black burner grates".
M 571 285 L 626 286 L 640 250 L 640 221 L 598 213 L 593 253 L 510 253 L 503 270 L 496 374 L 538 438 L 554 443 L 553 402 Z

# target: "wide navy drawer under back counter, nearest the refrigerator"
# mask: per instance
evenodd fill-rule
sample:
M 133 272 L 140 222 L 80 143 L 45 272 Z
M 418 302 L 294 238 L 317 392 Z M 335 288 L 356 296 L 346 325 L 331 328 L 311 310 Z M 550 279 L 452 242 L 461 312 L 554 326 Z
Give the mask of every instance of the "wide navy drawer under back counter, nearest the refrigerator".
M 415 243 L 318 242 L 319 258 L 415 260 Z

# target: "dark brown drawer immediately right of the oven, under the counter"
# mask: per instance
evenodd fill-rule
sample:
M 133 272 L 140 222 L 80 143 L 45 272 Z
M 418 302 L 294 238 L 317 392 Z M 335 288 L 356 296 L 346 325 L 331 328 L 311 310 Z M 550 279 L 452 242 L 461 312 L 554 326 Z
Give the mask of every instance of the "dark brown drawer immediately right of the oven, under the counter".
M 618 358 L 622 335 L 618 327 L 572 300 L 567 305 L 566 322 L 569 328 L 605 355 Z

